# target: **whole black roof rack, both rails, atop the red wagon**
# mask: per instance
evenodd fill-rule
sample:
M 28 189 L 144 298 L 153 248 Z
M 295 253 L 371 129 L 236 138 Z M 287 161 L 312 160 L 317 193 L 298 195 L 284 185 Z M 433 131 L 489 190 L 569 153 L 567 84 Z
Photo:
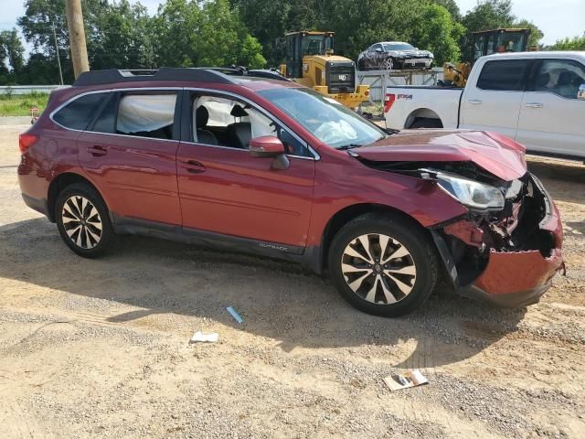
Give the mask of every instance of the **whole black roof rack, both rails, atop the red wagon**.
M 236 84 L 233 76 L 250 76 L 272 80 L 287 80 L 276 70 L 248 70 L 243 67 L 231 68 L 182 68 L 164 67 L 158 70 L 90 70 L 80 74 L 74 86 L 111 84 L 114 82 L 136 82 L 144 80 L 195 80 Z

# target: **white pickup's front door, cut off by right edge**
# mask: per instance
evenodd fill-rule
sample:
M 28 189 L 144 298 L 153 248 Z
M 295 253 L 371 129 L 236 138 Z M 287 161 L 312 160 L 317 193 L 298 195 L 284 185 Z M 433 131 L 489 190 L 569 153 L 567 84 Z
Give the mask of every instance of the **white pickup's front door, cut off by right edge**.
M 540 59 L 524 93 L 516 140 L 529 151 L 585 156 L 585 66 L 576 59 Z

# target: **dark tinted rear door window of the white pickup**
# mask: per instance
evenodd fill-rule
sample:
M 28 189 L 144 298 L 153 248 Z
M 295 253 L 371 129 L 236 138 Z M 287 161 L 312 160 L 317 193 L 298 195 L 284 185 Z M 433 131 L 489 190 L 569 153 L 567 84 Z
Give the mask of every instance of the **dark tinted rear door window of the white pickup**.
M 477 80 L 477 88 L 497 91 L 524 91 L 532 59 L 487 61 Z

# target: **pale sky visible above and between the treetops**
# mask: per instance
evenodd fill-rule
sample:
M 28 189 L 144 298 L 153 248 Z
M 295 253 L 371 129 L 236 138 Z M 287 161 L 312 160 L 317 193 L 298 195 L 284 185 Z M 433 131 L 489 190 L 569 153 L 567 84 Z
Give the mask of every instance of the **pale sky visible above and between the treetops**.
M 407 0 L 408 1 L 408 0 Z M 456 0 L 465 14 L 477 0 Z M 156 12 L 159 0 L 141 0 L 151 14 Z M 545 34 L 542 44 L 550 45 L 564 37 L 576 37 L 585 31 L 585 0 L 513 0 L 512 12 L 519 18 L 532 21 Z M 24 2 L 0 0 L 0 30 L 16 27 L 16 18 L 25 13 Z M 335 30 L 335 29 L 333 29 Z M 32 48 L 26 45 L 27 51 Z

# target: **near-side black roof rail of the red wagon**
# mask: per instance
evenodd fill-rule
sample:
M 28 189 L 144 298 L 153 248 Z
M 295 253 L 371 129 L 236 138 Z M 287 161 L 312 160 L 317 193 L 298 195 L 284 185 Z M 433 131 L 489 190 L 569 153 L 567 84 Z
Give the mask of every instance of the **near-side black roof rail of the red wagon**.
M 114 82 L 135 82 L 143 80 L 197 80 L 200 82 L 219 82 L 222 84 L 235 83 L 235 80 L 232 80 L 228 75 L 217 70 L 163 67 L 158 70 L 90 70 L 81 73 L 80 77 L 73 82 L 73 85 L 101 85 Z

